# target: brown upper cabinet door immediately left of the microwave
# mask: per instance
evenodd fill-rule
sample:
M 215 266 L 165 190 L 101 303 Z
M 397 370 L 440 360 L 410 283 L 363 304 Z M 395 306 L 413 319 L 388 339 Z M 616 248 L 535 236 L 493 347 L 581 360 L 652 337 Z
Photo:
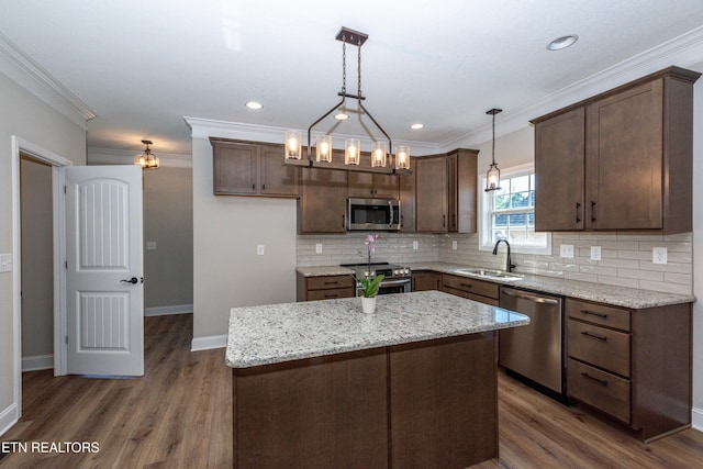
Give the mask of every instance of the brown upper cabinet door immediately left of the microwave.
M 347 171 L 302 169 L 300 233 L 345 233 Z

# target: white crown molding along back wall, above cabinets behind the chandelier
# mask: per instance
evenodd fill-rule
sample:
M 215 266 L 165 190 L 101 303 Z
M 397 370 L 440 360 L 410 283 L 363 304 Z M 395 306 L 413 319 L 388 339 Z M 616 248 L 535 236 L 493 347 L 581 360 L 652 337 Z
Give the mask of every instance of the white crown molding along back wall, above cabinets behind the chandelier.
M 201 118 L 188 118 L 183 120 L 191 129 L 191 136 L 193 138 L 232 138 L 243 139 L 252 142 L 267 142 L 267 143 L 283 143 L 283 134 L 290 129 L 247 124 L 242 122 L 228 122 L 228 121 L 215 121 L 211 119 Z M 311 136 L 324 135 L 322 132 L 312 132 Z M 334 133 L 335 138 L 358 138 L 361 141 L 361 145 L 368 145 L 369 148 L 373 142 L 369 137 L 359 135 L 347 135 L 342 133 Z M 425 142 L 411 142 L 411 141 L 393 141 L 398 145 L 410 146 L 410 152 L 413 156 L 419 155 L 432 155 L 438 153 L 439 148 L 436 144 Z M 453 148 L 454 149 L 454 148 Z

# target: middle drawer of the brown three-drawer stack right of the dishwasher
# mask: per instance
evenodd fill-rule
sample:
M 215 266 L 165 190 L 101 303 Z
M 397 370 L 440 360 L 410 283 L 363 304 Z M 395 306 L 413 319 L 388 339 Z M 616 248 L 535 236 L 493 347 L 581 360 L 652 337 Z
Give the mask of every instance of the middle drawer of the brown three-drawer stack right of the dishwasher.
M 629 334 L 569 319 L 569 357 L 629 378 Z

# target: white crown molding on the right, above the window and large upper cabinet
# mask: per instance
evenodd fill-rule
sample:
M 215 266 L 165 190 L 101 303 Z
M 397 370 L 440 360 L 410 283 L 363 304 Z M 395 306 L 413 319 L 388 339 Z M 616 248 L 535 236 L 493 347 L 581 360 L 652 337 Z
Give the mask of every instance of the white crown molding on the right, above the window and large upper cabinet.
M 568 87 L 561 88 L 537 101 L 506 110 L 501 118 L 495 120 L 495 136 L 499 137 L 524 129 L 528 126 L 529 121 L 535 118 L 566 108 L 574 102 L 625 85 L 671 65 L 689 68 L 700 66 L 702 63 L 703 26 L 700 26 Z M 491 132 L 491 123 L 490 120 L 487 119 L 486 125 L 442 142 L 439 147 L 445 152 L 457 147 L 472 148 L 490 141 L 492 136 Z

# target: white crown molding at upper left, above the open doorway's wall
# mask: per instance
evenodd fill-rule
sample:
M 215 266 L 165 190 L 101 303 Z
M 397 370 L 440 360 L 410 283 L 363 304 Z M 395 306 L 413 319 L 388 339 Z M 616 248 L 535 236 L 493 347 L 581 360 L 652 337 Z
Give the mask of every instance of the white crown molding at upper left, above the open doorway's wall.
M 29 92 L 86 129 L 96 113 L 68 88 L 0 33 L 0 71 Z

